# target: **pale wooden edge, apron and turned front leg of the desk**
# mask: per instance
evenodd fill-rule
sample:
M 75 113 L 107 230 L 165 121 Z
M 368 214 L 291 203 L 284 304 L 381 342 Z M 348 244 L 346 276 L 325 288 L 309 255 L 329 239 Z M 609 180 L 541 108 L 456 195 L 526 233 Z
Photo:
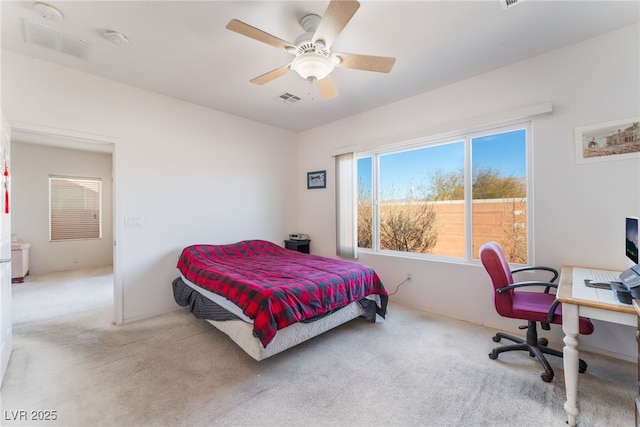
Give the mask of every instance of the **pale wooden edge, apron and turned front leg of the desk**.
M 637 314 L 631 305 L 617 305 L 573 297 L 573 267 L 564 266 L 558 281 L 557 298 L 562 303 L 562 330 L 564 331 L 564 381 L 567 412 L 570 426 L 576 425 L 578 409 L 578 316 L 622 325 L 637 326 Z

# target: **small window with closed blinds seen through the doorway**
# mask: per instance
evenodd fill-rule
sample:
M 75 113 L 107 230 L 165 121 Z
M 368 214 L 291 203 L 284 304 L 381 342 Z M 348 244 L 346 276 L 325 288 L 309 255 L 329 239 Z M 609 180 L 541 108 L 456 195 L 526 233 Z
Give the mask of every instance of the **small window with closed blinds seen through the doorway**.
M 49 176 L 49 240 L 102 238 L 102 181 Z

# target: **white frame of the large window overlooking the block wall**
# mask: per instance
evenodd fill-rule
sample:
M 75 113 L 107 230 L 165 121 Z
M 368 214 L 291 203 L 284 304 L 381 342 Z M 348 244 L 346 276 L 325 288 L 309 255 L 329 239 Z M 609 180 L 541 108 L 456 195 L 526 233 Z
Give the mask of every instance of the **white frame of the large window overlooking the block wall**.
M 515 130 L 525 130 L 525 183 L 527 190 L 527 263 L 531 263 L 533 258 L 533 140 L 532 140 L 533 119 L 519 119 L 500 124 L 484 125 L 475 128 L 466 129 L 464 131 L 450 132 L 447 134 L 437 135 L 433 137 L 424 137 L 408 141 L 405 143 L 395 143 L 386 147 L 357 151 L 354 161 L 357 162 L 362 158 L 371 158 L 371 192 L 372 192 L 372 244 L 371 248 L 358 247 L 357 250 L 362 253 L 372 253 L 383 256 L 396 256 L 405 258 L 428 259 L 433 261 L 457 262 L 466 264 L 478 264 L 480 261 L 476 258 L 477 254 L 473 253 L 473 199 L 472 199 L 472 140 L 487 135 L 501 134 Z M 393 250 L 380 249 L 380 200 L 379 200 L 379 181 L 380 181 L 380 156 L 390 153 L 400 153 L 404 151 L 435 147 L 438 145 L 463 141 L 464 143 L 464 257 L 453 257 L 446 255 L 421 254 L 414 252 L 401 252 Z M 356 166 L 357 169 L 357 166 Z M 356 170 L 357 175 L 357 170 Z M 357 187 L 357 186 L 356 186 Z M 357 191 L 357 188 L 356 188 Z M 355 198 L 356 207 L 355 215 L 357 217 L 357 197 Z

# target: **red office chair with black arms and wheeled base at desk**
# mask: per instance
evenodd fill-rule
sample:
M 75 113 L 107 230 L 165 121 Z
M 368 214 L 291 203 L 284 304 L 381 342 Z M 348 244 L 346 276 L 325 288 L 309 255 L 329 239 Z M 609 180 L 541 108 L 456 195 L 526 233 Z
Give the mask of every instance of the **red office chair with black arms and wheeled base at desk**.
M 549 293 L 551 288 L 557 288 L 558 285 L 553 283 L 558 278 L 558 272 L 550 267 L 529 266 L 511 270 L 509 264 L 502 252 L 502 248 L 495 242 L 482 245 L 480 248 L 480 260 L 482 265 L 489 273 L 491 282 L 493 283 L 493 303 L 496 311 L 502 317 L 510 317 L 512 319 L 523 319 L 527 321 L 527 326 L 520 326 L 520 329 L 527 329 L 527 338 L 522 339 L 516 336 L 498 332 L 493 341 L 500 342 L 500 339 L 506 338 L 516 344 L 504 345 L 494 348 L 489 357 L 497 359 L 500 353 L 513 350 L 526 350 L 531 357 L 535 356 L 542 367 L 544 373 L 540 375 L 542 380 L 549 382 L 553 379 L 553 369 L 545 358 L 545 354 L 562 357 L 562 352 L 547 347 L 549 341 L 546 338 L 538 339 L 538 331 L 536 322 L 540 322 L 542 329 L 549 330 L 549 324 L 562 324 L 562 305 L 556 300 L 555 294 Z M 526 270 L 545 270 L 553 274 L 548 282 L 544 281 L 513 281 L 512 273 Z M 527 292 L 516 289 L 524 287 L 544 287 L 544 292 Z M 593 332 L 593 324 L 586 317 L 580 317 L 579 320 L 580 333 L 589 335 Z M 587 364 L 584 360 L 580 360 L 579 371 L 585 372 Z

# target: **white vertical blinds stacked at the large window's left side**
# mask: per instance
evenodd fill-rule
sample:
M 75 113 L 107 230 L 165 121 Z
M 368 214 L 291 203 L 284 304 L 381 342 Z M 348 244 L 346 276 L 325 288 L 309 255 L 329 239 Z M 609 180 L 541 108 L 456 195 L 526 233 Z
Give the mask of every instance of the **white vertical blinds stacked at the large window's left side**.
M 336 254 L 352 259 L 358 257 L 354 157 L 353 153 L 336 156 Z

